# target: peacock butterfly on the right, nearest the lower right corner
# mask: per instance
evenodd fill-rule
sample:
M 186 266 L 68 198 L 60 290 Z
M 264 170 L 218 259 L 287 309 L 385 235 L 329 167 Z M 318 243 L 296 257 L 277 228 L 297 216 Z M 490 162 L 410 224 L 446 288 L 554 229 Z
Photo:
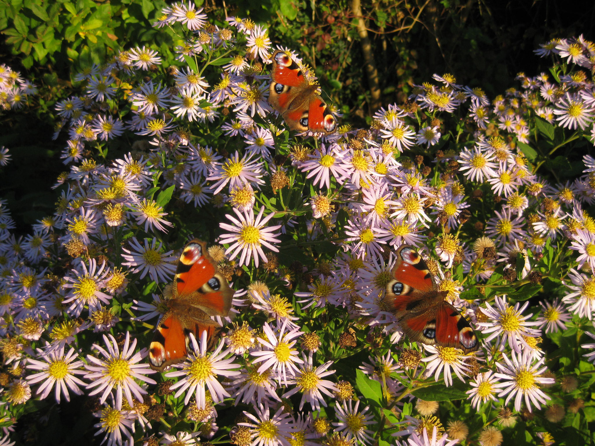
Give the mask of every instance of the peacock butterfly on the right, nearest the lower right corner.
M 430 346 L 460 348 L 470 353 L 479 342 L 469 322 L 438 291 L 425 260 L 414 247 L 403 244 L 386 285 L 384 301 L 412 341 Z

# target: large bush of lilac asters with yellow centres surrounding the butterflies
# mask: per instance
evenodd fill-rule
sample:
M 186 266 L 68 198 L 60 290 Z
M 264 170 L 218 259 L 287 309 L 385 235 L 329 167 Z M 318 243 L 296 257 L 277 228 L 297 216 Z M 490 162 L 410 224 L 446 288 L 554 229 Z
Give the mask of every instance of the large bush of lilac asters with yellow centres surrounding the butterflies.
M 180 37 L 179 65 L 130 48 L 57 103 L 69 170 L 54 215 L 18 237 L 0 202 L 4 434 L 32 398 L 85 395 L 108 445 L 496 446 L 520 417 L 552 444 L 546 422 L 591 395 L 576 375 L 595 359 L 580 341 L 595 338 L 595 159 L 572 182 L 536 172 L 591 145 L 595 86 L 578 67 L 593 43 L 547 43 L 551 77 L 519 74 L 492 102 L 436 75 L 367 129 L 290 136 L 267 101 L 266 29 L 211 24 L 191 2 L 154 26 Z M 159 375 L 146 347 L 191 235 L 212 242 L 233 317 L 214 317 L 214 346 L 190 334 L 187 359 Z M 480 334 L 477 352 L 403 334 L 384 293 L 405 243 Z M 569 330 L 586 360 L 546 363 L 542 337 L 561 346 Z M 218 425 L 226 412 L 236 422 Z

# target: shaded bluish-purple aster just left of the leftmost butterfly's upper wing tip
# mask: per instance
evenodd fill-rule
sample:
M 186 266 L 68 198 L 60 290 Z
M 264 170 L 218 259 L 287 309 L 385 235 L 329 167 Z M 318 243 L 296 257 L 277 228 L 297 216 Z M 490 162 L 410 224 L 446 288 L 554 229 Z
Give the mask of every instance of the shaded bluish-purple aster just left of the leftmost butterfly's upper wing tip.
M 140 272 L 141 279 L 149 273 L 149 277 L 155 282 L 169 282 L 169 276 L 176 272 L 176 265 L 173 265 L 172 262 L 176 262 L 178 259 L 175 256 L 170 256 L 173 250 L 161 253 L 161 241 L 157 246 L 155 237 L 151 241 L 151 246 L 149 246 L 149 239 L 145 238 L 144 247 L 140 245 L 136 237 L 132 237 L 130 250 L 126 248 L 122 248 L 122 250 L 127 253 L 122 255 L 127 260 L 122 265 L 136 266 L 132 272 Z

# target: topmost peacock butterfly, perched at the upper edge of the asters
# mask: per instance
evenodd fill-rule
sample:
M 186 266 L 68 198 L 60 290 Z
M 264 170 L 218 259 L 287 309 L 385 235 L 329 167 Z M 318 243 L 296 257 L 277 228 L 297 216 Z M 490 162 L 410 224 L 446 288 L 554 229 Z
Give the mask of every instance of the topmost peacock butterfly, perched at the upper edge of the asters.
M 302 69 L 285 52 L 273 54 L 268 102 L 291 130 L 334 133 L 337 121 L 318 94 L 318 84 L 309 82 Z

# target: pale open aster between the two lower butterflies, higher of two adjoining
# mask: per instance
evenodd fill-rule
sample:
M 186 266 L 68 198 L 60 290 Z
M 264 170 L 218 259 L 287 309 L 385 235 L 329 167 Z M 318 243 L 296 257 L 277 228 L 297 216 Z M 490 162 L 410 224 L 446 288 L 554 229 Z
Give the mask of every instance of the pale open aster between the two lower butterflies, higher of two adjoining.
M 296 363 L 303 363 L 297 356 L 297 350 L 292 348 L 297 342 L 295 338 L 302 335 L 303 331 L 299 331 L 299 328 L 292 328 L 286 332 L 289 321 L 284 319 L 281 325 L 279 323 L 277 321 L 278 334 L 275 334 L 268 323 L 262 326 L 266 339 L 259 337 L 258 342 L 262 344 L 264 350 L 252 351 L 250 354 L 257 356 L 252 361 L 253 363 L 262 362 L 258 368 L 258 373 L 273 368 L 277 374 L 277 381 L 287 384 L 287 375 L 291 378 L 299 372 Z

